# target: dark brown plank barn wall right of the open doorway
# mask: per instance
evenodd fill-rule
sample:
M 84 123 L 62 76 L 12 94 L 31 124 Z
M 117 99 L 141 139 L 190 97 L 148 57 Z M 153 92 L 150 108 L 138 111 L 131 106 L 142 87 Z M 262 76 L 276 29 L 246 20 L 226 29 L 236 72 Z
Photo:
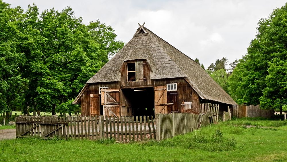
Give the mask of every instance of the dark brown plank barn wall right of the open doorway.
M 168 113 L 181 112 L 182 102 L 192 102 L 191 108 L 199 110 L 200 100 L 195 90 L 187 83 L 184 78 L 156 79 L 154 86 L 162 86 L 168 83 L 177 83 L 177 91 L 167 91 Z

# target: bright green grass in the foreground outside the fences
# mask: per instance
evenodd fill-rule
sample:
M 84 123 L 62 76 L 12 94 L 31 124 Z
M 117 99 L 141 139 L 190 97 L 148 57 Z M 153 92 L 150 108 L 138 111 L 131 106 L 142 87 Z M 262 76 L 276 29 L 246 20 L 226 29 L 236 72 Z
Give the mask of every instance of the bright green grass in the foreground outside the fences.
M 287 161 L 286 134 L 286 121 L 244 118 L 160 142 L 1 140 L 0 161 Z

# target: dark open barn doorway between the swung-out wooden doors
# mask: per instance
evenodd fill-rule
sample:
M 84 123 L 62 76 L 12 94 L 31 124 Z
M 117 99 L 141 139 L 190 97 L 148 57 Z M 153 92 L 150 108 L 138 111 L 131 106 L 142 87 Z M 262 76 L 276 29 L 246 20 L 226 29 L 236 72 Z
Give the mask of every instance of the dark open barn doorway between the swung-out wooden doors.
M 127 110 L 131 115 L 154 116 L 154 88 L 128 88 L 122 89 L 122 102 L 125 100 Z

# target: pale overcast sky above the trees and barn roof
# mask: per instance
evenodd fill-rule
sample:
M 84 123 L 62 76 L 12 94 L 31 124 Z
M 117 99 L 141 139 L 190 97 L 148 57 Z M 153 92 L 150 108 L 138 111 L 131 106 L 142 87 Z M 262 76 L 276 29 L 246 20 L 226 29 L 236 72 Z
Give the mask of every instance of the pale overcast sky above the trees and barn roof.
M 117 39 L 127 43 L 140 24 L 205 68 L 217 58 L 230 62 L 242 58 L 256 35 L 257 23 L 281 6 L 283 0 L 4 0 L 26 9 L 35 3 L 40 12 L 66 6 L 83 23 L 100 20 L 115 29 Z

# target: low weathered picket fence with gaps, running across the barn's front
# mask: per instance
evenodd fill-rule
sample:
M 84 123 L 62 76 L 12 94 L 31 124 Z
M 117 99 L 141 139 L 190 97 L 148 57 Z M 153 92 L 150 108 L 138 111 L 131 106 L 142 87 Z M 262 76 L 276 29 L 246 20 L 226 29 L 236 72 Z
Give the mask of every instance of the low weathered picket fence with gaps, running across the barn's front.
M 139 141 L 156 139 L 155 120 L 144 117 L 16 117 L 16 137 Z

